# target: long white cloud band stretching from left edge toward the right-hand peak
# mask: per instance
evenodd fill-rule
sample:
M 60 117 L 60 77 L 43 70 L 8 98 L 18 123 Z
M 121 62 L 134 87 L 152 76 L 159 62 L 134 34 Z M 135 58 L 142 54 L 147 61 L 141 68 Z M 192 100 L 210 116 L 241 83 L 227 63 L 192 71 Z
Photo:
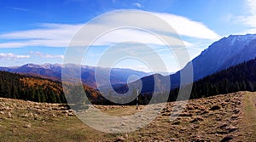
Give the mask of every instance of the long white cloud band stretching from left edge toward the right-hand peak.
M 170 24 L 181 36 L 211 40 L 218 39 L 219 37 L 217 33 L 207 28 L 207 26 L 200 22 L 189 20 L 186 17 L 165 13 L 151 14 L 155 14 L 161 19 L 166 20 L 166 22 Z M 88 26 L 90 26 L 92 31 L 101 31 L 102 28 L 113 24 L 113 21 L 122 24 L 125 21 L 123 21 L 123 18 L 120 17 L 121 15 L 122 14 L 113 15 L 112 17 L 108 17 L 108 19 L 102 19 L 101 22 Z M 129 18 L 127 18 L 127 21 L 128 20 Z M 8 41 L 12 42 L 2 42 L 0 43 L 0 48 L 22 48 L 29 46 L 67 47 L 73 36 L 82 26 L 82 24 L 67 25 L 46 23 L 39 25 L 37 29 L 3 33 L 0 34 L 0 39 L 9 39 Z M 170 38 L 172 41 L 177 40 L 168 36 L 168 34 L 172 33 L 165 33 L 165 29 L 155 27 L 154 22 L 148 23 L 147 26 L 148 29 L 151 28 L 153 31 L 162 34 L 163 37 Z M 163 44 L 159 39 L 156 39 L 154 36 L 145 31 L 121 29 L 118 31 L 113 31 L 113 33 L 109 32 L 107 35 L 102 36 L 102 38 L 99 39 L 95 45 L 109 45 L 112 43 L 135 40 L 148 44 Z M 87 41 L 83 41 L 82 43 L 86 42 Z M 86 44 L 90 44 L 88 42 Z M 184 43 L 186 46 L 193 46 L 193 43 L 186 41 L 184 41 Z

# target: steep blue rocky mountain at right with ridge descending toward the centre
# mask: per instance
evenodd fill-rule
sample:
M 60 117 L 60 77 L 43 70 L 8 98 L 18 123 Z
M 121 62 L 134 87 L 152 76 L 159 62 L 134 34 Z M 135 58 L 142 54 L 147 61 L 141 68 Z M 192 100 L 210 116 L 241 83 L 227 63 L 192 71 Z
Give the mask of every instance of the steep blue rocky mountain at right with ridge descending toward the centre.
M 181 71 L 185 71 L 189 68 L 189 65 L 193 65 L 194 82 L 212 75 L 218 71 L 229 68 L 232 65 L 237 65 L 241 62 L 252 60 L 256 57 L 256 34 L 247 35 L 230 35 L 229 37 L 223 37 L 217 42 L 212 43 L 207 49 L 201 52 L 201 54 L 191 60 Z M 137 82 L 131 84 L 118 85 L 114 89 L 119 92 L 126 92 L 127 86 L 137 86 L 140 82 L 143 82 L 142 93 L 154 92 L 154 86 L 157 90 L 162 90 L 165 86 L 166 79 L 171 79 L 171 88 L 177 88 L 180 86 L 180 74 L 181 71 L 162 77 L 159 74 L 142 77 Z M 155 77 L 155 79 L 153 79 Z M 189 82 L 186 82 L 189 83 Z M 185 85 L 185 84 L 182 84 Z M 156 91 L 157 91 L 156 90 Z

